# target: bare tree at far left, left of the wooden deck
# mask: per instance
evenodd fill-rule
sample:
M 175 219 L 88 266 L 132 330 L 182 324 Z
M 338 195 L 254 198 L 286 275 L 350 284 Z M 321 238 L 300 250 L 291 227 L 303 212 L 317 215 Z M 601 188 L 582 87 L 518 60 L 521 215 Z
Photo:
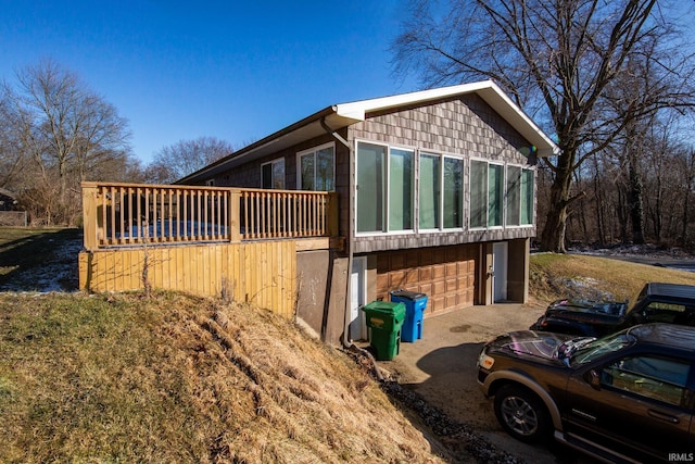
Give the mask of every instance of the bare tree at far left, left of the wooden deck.
M 75 73 L 43 61 L 17 72 L 3 96 L 21 200 L 47 224 L 75 223 L 80 181 L 123 180 L 127 122 Z

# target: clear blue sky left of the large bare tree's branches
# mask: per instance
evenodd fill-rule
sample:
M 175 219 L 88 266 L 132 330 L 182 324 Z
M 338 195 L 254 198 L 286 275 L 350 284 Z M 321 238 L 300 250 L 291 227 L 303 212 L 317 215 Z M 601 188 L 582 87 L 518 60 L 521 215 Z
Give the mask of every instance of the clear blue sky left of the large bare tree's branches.
M 399 3 L 0 0 L 0 79 L 42 59 L 76 72 L 129 121 L 144 163 L 202 136 L 240 148 L 333 103 L 418 89 L 391 74 Z

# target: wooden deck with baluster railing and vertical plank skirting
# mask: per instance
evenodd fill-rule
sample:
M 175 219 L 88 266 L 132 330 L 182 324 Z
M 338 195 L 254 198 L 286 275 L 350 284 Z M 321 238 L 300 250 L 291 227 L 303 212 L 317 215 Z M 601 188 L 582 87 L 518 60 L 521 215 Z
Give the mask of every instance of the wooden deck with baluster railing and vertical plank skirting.
M 83 184 L 80 289 L 226 296 L 292 316 L 296 252 L 342 247 L 334 192 Z

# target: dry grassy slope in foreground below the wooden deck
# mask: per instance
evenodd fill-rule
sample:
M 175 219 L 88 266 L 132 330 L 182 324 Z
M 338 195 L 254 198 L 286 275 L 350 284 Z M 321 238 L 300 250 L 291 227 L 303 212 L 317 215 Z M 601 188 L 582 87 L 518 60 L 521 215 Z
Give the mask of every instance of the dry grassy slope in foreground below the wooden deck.
M 342 352 L 250 306 L 0 293 L 0 462 L 438 462 Z

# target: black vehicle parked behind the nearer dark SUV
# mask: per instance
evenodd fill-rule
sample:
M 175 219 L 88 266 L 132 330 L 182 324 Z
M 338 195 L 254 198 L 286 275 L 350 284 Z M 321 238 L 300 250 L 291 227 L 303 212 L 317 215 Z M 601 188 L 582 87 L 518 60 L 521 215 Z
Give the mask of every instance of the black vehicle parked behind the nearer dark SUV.
M 627 301 L 557 300 L 530 329 L 601 337 L 652 322 L 695 326 L 695 286 L 646 284 L 631 309 Z

